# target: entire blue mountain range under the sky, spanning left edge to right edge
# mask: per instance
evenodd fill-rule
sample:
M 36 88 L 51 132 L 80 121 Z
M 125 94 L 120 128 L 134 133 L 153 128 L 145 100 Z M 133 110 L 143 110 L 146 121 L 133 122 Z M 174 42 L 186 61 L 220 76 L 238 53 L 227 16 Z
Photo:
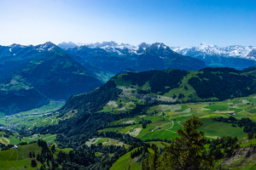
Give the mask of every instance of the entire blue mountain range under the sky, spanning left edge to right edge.
M 172 48 L 161 42 L 132 46 L 113 41 L 58 46 L 52 42 L 0 46 L 0 112 L 10 115 L 45 105 L 49 99 L 87 93 L 119 73 L 256 65 L 253 46 L 218 48 L 202 43 Z

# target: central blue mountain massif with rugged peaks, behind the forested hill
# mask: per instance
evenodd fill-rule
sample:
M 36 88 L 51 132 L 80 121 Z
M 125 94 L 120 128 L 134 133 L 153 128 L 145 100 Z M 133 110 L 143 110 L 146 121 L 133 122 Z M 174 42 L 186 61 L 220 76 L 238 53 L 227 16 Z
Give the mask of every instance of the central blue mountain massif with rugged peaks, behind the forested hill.
M 177 54 L 165 44 L 158 42 L 153 44 L 143 42 L 138 47 L 116 42 L 97 42 L 65 48 L 65 50 L 73 56 L 78 55 L 85 63 L 96 65 L 113 75 L 125 68 L 135 71 L 169 68 L 196 71 L 206 67 L 200 59 Z

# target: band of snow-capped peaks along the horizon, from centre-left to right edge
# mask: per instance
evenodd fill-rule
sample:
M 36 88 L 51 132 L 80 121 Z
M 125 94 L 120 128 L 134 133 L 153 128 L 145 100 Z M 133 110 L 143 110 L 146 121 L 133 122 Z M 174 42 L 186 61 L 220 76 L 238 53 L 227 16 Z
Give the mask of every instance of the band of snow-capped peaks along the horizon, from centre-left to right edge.
M 64 42 L 62 42 L 63 45 Z M 66 42 L 65 42 L 66 43 Z M 168 53 L 177 52 L 178 54 L 188 55 L 194 58 L 199 56 L 220 56 L 220 57 L 233 57 L 233 58 L 242 58 L 242 59 L 253 59 L 256 60 L 254 53 L 250 54 L 253 49 L 256 47 L 253 46 L 240 46 L 232 45 L 224 48 L 219 48 L 214 44 L 207 44 L 206 42 L 201 42 L 198 46 L 195 47 L 168 47 L 162 42 L 155 43 L 146 43 L 142 42 L 138 46 L 133 46 L 128 43 L 117 43 L 114 41 L 111 42 L 96 42 L 96 43 L 73 43 L 68 42 L 69 45 L 73 45 L 74 48 L 102 48 L 108 53 L 125 55 L 125 54 L 157 54 L 160 57 L 165 57 Z M 60 44 L 59 44 L 60 46 Z M 60 46 L 61 47 L 61 46 Z M 171 50 L 172 49 L 172 50 Z

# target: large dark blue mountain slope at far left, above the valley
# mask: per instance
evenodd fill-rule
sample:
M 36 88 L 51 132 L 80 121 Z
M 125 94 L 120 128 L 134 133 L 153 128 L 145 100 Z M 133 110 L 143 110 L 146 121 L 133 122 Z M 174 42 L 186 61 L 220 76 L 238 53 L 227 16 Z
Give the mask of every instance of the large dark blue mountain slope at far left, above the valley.
M 0 111 L 6 115 L 102 85 L 95 74 L 51 42 L 38 46 L 15 44 L 1 49 Z

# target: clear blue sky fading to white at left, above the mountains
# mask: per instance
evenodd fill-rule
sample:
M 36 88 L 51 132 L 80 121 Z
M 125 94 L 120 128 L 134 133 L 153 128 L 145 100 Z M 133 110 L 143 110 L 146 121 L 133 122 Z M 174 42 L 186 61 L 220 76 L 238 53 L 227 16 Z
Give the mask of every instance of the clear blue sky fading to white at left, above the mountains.
M 256 46 L 255 0 L 0 0 L 0 44 Z

